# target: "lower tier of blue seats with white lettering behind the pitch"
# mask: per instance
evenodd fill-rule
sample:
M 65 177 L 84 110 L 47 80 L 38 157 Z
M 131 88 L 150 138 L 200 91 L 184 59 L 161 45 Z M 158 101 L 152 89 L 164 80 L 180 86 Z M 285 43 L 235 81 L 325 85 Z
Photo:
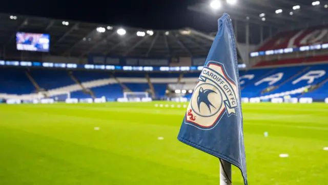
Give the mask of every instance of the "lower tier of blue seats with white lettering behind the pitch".
M 116 100 L 124 91 L 150 92 L 163 99 L 167 90 L 193 89 L 199 72 L 145 73 L 109 72 L 101 70 L 1 68 L 0 94 L 37 95 L 71 98 L 101 98 Z M 241 70 L 243 98 L 308 97 L 322 101 L 328 97 L 328 64 L 290 67 L 269 67 Z M 148 79 L 149 78 L 149 79 Z M 63 97 L 64 96 L 64 97 Z M 190 94 L 183 95 L 190 98 Z

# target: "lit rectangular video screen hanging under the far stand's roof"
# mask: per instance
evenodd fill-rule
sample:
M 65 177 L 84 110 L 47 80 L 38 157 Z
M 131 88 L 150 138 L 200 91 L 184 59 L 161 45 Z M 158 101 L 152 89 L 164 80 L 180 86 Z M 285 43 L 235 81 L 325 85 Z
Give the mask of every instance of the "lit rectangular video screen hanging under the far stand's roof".
M 42 33 L 16 33 L 17 50 L 49 52 L 50 35 Z

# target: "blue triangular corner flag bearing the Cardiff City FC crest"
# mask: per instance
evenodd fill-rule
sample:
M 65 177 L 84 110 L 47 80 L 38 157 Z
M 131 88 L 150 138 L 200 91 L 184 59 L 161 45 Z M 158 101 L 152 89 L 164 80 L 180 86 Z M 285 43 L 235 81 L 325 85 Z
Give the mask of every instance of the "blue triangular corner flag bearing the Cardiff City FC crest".
M 234 164 L 247 185 L 235 36 L 226 13 L 200 73 L 178 140 Z

